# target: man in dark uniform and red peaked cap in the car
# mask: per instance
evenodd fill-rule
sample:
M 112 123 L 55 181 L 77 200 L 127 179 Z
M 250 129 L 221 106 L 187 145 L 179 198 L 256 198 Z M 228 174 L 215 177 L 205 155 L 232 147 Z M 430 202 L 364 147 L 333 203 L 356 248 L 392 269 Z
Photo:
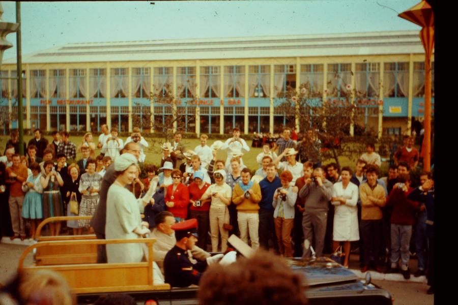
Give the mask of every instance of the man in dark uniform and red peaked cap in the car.
M 205 261 L 191 263 L 187 251 L 194 248 L 197 241 L 197 220 L 195 218 L 171 226 L 175 230 L 177 243 L 164 259 L 165 283 L 172 287 L 198 285 L 202 272 L 208 265 L 218 262 L 223 254 L 208 257 Z

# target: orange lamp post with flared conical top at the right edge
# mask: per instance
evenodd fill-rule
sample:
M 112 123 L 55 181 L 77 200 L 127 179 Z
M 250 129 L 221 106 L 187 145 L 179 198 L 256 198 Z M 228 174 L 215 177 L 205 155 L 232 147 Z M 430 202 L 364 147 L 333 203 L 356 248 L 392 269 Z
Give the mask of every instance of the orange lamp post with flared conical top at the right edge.
M 434 49 L 434 13 L 425 0 L 398 15 L 420 25 L 424 58 L 424 137 L 422 143 L 423 170 L 431 169 L 431 55 Z

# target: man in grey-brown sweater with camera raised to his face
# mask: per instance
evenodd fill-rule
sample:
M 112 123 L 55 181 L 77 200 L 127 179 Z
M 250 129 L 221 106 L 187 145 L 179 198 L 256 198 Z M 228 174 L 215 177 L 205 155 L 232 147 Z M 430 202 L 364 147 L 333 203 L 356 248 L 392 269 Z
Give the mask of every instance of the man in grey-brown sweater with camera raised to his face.
M 305 185 L 299 191 L 299 198 L 304 205 L 302 230 L 304 240 L 312 241 L 317 257 L 323 255 L 326 224 L 328 221 L 328 202 L 332 197 L 333 185 L 324 178 L 323 169 L 317 167 L 312 176 L 305 179 Z M 310 257 L 310 249 L 304 249 L 303 257 Z

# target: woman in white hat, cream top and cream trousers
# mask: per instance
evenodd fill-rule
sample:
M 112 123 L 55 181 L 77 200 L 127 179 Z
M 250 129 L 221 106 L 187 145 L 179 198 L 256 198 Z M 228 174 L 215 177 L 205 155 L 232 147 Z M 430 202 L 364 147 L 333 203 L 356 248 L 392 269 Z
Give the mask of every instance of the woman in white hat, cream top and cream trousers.
M 210 205 L 210 233 L 212 235 L 212 251 L 218 252 L 218 235 L 221 232 L 221 252 L 227 250 L 228 231 L 224 229 L 224 224 L 229 223 L 229 211 L 227 206 L 231 204 L 231 187 L 225 182 L 226 172 L 219 169 L 214 172 L 215 184 L 212 184 L 201 200 L 212 199 Z

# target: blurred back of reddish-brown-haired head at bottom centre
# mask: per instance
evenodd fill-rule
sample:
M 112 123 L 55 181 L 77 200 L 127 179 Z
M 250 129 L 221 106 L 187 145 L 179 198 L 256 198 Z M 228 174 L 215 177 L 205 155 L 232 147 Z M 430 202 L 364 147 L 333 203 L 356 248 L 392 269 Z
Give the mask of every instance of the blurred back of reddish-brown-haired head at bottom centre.
M 307 303 L 303 276 L 281 257 L 263 250 L 231 265 L 209 266 L 197 298 L 201 305 Z

